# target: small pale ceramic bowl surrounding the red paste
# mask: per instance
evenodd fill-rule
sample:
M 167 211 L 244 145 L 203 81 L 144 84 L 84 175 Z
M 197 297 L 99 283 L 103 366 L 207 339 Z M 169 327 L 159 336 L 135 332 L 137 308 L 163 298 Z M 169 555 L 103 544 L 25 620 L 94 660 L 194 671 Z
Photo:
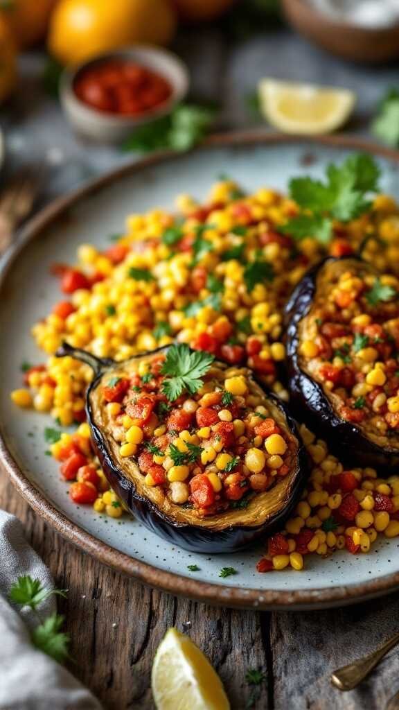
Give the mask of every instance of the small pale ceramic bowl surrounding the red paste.
M 129 60 L 147 67 L 165 77 L 172 87 L 170 97 L 154 109 L 137 116 L 121 116 L 98 111 L 85 104 L 75 93 L 75 81 L 80 73 L 106 60 Z M 68 67 L 60 82 L 62 107 L 73 129 L 82 136 L 103 143 L 118 143 L 133 133 L 137 126 L 168 114 L 187 94 L 189 75 L 185 64 L 168 50 L 146 45 L 134 45 L 114 52 L 98 55 L 75 67 Z

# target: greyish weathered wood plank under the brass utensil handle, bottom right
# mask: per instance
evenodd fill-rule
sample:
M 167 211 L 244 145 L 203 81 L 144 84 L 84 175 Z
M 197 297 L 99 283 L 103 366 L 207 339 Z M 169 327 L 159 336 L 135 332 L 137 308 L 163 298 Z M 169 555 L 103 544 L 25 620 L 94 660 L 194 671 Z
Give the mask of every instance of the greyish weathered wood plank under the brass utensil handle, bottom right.
M 376 650 L 398 631 L 399 596 L 332 611 L 273 614 L 275 710 L 383 710 L 399 690 L 399 647 L 359 689 L 329 683 L 337 668 Z

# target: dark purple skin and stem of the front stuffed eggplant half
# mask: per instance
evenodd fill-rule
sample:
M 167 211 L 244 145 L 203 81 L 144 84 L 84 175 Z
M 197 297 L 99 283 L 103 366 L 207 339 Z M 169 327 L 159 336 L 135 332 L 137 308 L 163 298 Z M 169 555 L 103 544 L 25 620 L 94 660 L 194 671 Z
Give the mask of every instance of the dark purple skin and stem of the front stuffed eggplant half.
M 151 353 L 137 355 L 132 359 L 140 360 L 143 357 L 155 354 L 155 352 L 165 351 L 166 349 L 168 349 L 168 346 L 158 348 Z M 104 373 L 111 371 L 112 368 L 121 365 L 121 363 L 115 363 L 109 359 L 100 360 L 85 351 L 72 348 L 67 344 L 63 344 L 57 354 L 58 356 L 70 355 L 76 359 L 81 359 L 94 369 L 95 376 L 87 391 L 86 413 L 87 421 L 92 432 L 95 452 L 97 453 L 109 484 L 114 488 L 114 491 L 116 491 L 121 500 L 124 501 L 127 508 L 131 510 L 134 517 L 140 520 L 148 530 L 155 532 L 173 545 L 178 545 L 190 552 L 227 553 L 236 552 L 236 550 L 251 545 L 251 543 L 256 540 L 266 537 L 266 535 L 270 535 L 282 528 L 284 521 L 295 507 L 302 488 L 305 485 L 308 467 L 307 454 L 297 433 L 296 422 L 285 405 L 275 398 L 274 395 L 267 393 L 267 398 L 270 399 L 270 403 L 273 403 L 273 405 L 278 408 L 281 415 L 283 415 L 287 428 L 295 439 L 297 439 L 298 445 L 295 470 L 285 476 L 284 479 L 280 479 L 275 488 L 272 489 L 272 491 L 275 491 L 275 496 L 277 496 L 278 491 L 280 491 L 281 505 L 278 511 L 271 515 L 270 518 L 266 518 L 261 525 L 246 525 L 246 510 L 244 509 L 240 510 L 240 520 L 239 522 L 235 522 L 234 525 L 229 525 L 229 523 L 226 525 L 226 516 L 231 514 L 228 511 L 222 513 L 224 516 L 223 529 L 219 530 L 217 527 L 209 529 L 196 524 L 197 519 L 194 518 L 194 516 L 192 523 L 189 524 L 173 520 L 170 515 L 167 515 L 156 506 L 153 501 L 149 500 L 141 493 L 138 493 L 134 481 L 126 476 L 124 471 L 116 465 L 111 455 L 106 436 L 104 432 L 102 432 L 101 427 L 96 423 L 96 413 L 92 405 L 91 395 L 99 385 Z M 256 384 L 263 389 L 261 384 Z M 280 504 L 280 499 L 278 499 L 278 503 Z M 236 518 L 237 510 L 234 510 L 234 514 Z

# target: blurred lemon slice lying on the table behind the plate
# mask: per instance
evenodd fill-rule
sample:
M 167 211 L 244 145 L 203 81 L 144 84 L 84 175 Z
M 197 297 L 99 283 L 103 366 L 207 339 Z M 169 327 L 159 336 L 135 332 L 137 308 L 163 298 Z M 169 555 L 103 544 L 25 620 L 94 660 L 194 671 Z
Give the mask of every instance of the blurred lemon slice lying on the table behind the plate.
M 347 89 L 262 79 L 258 94 L 263 116 L 283 133 L 331 133 L 349 118 L 356 101 Z

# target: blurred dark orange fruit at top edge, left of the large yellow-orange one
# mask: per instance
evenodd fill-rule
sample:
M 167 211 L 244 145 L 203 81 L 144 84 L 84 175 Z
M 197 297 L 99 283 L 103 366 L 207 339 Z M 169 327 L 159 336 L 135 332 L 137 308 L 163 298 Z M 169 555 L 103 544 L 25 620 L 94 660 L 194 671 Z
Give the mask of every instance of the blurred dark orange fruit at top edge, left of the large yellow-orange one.
M 37 44 L 45 38 L 48 20 L 57 0 L 4 0 L 0 16 L 9 24 L 21 47 Z

